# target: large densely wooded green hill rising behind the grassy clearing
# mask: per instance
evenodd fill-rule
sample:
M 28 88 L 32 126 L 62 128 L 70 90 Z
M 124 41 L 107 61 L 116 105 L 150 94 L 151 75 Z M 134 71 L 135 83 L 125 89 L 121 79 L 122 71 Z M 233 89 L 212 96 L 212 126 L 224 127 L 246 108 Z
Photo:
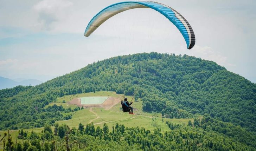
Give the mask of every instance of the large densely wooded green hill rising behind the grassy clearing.
M 213 61 L 188 55 L 141 53 L 90 64 L 36 87 L 0 91 L 0 130 L 41 127 L 68 119 L 58 97 L 115 91 L 141 98 L 143 110 L 165 118 L 205 115 L 256 132 L 256 84 Z

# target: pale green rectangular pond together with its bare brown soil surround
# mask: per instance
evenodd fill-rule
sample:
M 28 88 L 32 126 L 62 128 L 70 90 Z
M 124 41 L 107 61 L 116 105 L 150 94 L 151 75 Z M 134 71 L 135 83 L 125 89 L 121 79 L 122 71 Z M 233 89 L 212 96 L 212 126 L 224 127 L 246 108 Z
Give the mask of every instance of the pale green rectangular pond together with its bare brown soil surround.
M 105 110 L 111 109 L 111 107 L 115 106 L 117 103 L 120 103 L 120 97 L 82 97 L 82 98 L 74 98 L 69 101 L 69 104 L 77 105 L 79 107 L 102 107 Z

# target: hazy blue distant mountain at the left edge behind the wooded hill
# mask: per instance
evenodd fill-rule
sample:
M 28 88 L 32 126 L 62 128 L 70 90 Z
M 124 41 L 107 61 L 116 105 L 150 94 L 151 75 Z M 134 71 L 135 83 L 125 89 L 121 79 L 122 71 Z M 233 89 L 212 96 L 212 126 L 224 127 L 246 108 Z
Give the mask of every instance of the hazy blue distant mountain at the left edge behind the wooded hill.
M 0 89 L 4 89 L 4 88 L 12 88 L 18 85 L 23 85 L 23 86 L 27 86 L 27 85 L 32 85 L 32 86 L 36 86 L 43 83 L 42 81 L 36 80 L 36 79 L 8 79 L 8 78 L 4 78 L 4 77 L 0 77 Z

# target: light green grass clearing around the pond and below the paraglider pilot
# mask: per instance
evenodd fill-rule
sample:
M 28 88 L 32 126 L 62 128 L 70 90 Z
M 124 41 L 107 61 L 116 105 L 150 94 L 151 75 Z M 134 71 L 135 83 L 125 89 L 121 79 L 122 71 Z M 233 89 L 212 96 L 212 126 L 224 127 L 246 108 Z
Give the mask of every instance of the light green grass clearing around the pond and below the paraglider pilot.
M 77 94 L 77 95 L 68 95 L 64 96 L 61 98 L 58 98 L 57 101 L 47 105 L 62 105 L 64 108 L 75 108 L 76 105 L 70 105 L 67 102 L 72 100 L 73 98 L 81 98 L 81 97 L 93 97 L 93 96 L 98 96 L 98 97 L 120 97 L 123 99 L 123 95 L 118 95 L 115 92 L 96 92 L 96 93 L 82 93 L 82 94 Z M 128 101 L 132 99 L 131 96 L 126 96 L 128 98 Z M 64 101 L 63 101 L 64 100 Z M 97 126 L 100 126 L 101 128 L 103 127 L 104 123 L 107 123 L 109 126 L 109 129 L 112 129 L 112 126 L 115 125 L 116 123 L 119 124 L 124 124 L 126 127 L 144 127 L 145 129 L 148 130 L 154 130 L 156 127 L 153 126 L 153 120 L 154 122 L 161 127 L 162 131 L 167 131 L 169 130 L 168 126 L 165 124 L 166 121 L 170 121 L 175 124 L 188 124 L 188 120 L 191 120 L 193 123 L 193 119 L 167 119 L 164 118 L 164 122 L 162 122 L 162 116 L 161 113 L 147 113 L 142 111 L 142 101 L 138 102 L 133 102 L 131 105 L 135 108 L 134 113 L 135 115 L 131 115 L 128 112 L 123 112 L 121 110 L 121 104 L 117 104 L 114 107 L 112 107 L 110 110 L 104 110 L 102 108 L 92 108 L 92 111 L 99 116 L 97 116 L 90 112 L 90 108 L 83 109 L 83 110 L 78 110 L 76 112 L 72 112 L 73 116 L 72 119 L 69 120 L 62 120 L 62 121 L 57 121 L 56 123 L 59 124 L 67 124 L 70 127 L 76 127 L 78 128 L 78 124 L 82 123 L 86 126 L 90 121 L 92 121 L 95 124 L 95 128 Z M 70 114 L 70 113 L 69 113 Z M 97 118 L 97 119 L 96 119 Z M 53 129 L 54 127 L 52 127 Z M 36 129 L 25 129 L 25 131 L 31 132 L 41 132 L 43 130 L 43 127 L 36 128 Z M 1 136 L 4 135 L 4 133 L 7 131 L 0 131 Z M 9 131 L 11 133 L 11 136 L 13 138 L 13 142 L 15 143 L 16 140 L 22 141 L 21 139 L 17 139 L 19 130 L 11 130 Z M 7 139 L 7 138 L 6 138 Z M 2 148 L 2 142 L 0 143 L 0 149 Z

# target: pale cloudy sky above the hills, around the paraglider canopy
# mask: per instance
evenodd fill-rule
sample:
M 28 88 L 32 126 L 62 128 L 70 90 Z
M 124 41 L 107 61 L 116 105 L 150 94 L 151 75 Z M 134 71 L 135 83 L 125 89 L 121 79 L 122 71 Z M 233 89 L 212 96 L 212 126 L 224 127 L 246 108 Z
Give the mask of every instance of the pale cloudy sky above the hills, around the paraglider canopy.
M 160 13 L 131 9 L 90 37 L 91 18 L 118 0 L 0 0 L 0 76 L 47 81 L 93 62 L 142 52 L 187 54 L 215 61 L 256 83 L 256 1 L 155 0 L 183 15 L 196 45 Z

